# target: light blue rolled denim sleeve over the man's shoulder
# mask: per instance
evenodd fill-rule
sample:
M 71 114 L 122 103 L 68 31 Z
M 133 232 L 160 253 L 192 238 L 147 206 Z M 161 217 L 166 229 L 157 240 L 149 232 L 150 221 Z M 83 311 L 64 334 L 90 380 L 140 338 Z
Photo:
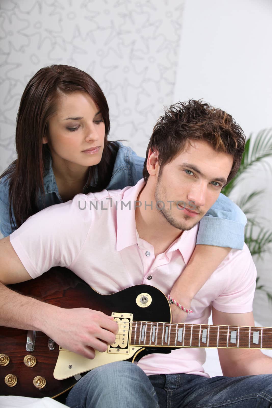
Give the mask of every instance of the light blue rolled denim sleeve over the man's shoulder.
M 220 193 L 215 204 L 200 220 L 197 244 L 243 249 L 246 223 L 243 211 Z

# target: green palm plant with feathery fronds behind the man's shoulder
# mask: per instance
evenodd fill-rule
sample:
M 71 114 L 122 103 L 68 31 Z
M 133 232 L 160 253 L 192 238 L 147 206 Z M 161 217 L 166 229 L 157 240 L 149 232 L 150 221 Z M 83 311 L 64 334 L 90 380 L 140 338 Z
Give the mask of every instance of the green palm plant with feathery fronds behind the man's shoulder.
M 248 173 L 256 169 L 257 166 L 263 166 L 272 175 L 272 167 L 267 160 L 269 157 L 272 157 L 272 129 L 260 131 L 255 138 L 252 137 L 251 133 L 245 143 L 245 151 L 237 175 L 223 188 L 222 193 L 228 197 L 231 196 L 234 189 L 239 188 Z M 257 199 L 259 201 L 264 193 L 263 190 L 251 191 L 236 200 L 236 204 L 248 218 L 248 223 L 245 226 L 245 243 L 251 255 L 259 258 L 263 258 L 265 253 L 271 252 L 272 243 L 272 228 L 267 227 L 267 225 L 272 224 L 271 220 L 255 215 Z M 256 284 L 256 289 L 263 290 L 272 302 L 272 295 L 265 289 L 264 285 L 259 284 L 259 277 L 256 279 Z

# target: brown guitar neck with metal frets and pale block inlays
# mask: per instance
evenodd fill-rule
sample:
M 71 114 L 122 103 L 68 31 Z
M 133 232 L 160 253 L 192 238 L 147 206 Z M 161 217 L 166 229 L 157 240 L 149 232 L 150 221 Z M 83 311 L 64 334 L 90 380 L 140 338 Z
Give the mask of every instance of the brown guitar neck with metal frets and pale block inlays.
M 272 348 L 272 328 L 133 321 L 130 345 L 171 348 Z

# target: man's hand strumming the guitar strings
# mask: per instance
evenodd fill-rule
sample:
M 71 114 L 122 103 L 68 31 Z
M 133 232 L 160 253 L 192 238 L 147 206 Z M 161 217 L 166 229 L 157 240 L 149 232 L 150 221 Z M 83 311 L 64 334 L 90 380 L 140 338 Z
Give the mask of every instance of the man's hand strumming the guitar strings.
M 59 308 L 58 312 L 43 331 L 61 347 L 93 359 L 95 350 L 104 352 L 115 341 L 119 328 L 113 317 L 88 308 Z

